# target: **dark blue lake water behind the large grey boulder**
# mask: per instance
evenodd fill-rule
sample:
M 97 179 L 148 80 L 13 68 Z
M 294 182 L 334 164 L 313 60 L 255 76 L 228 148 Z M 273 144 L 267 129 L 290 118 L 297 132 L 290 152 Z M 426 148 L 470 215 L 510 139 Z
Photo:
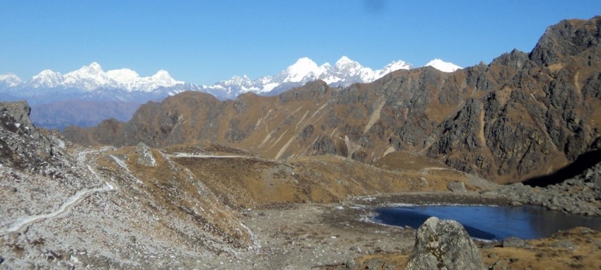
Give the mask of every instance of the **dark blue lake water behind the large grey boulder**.
M 459 221 L 467 233 L 485 240 L 549 237 L 578 226 L 601 230 L 601 218 L 549 211 L 537 206 L 403 206 L 376 209 L 374 221 L 387 225 L 419 226 L 431 216 Z

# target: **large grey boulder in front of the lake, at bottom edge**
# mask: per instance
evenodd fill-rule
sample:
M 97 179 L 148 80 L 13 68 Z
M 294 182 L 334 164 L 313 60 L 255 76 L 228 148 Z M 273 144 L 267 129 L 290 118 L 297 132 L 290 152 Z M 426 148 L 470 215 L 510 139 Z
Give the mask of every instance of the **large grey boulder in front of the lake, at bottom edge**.
M 405 270 L 483 269 L 483 265 L 480 250 L 460 223 L 432 217 L 417 229 Z

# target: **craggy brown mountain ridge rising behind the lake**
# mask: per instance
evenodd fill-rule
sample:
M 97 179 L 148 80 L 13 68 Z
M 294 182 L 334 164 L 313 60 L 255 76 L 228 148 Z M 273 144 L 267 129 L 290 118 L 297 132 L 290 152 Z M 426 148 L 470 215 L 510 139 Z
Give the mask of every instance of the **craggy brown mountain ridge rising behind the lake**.
M 546 175 L 601 148 L 601 17 L 564 20 L 530 54 L 451 74 L 425 67 L 368 84 L 317 81 L 276 97 L 220 102 L 181 93 L 127 123 L 64 135 L 88 144 L 214 141 L 266 158 L 343 155 L 365 163 L 413 151 L 496 182 Z

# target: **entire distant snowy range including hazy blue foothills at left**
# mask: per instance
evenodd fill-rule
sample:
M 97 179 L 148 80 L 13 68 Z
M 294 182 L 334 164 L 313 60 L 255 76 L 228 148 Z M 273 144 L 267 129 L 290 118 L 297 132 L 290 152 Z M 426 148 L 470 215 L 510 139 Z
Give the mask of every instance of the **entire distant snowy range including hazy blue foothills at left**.
M 440 59 L 427 65 L 448 72 L 460 69 Z M 243 93 L 277 95 L 315 80 L 326 81 L 332 87 L 369 83 L 391 71 L 411 68 L 411 64 L 399 60 L 383 69 L 372 70 L 348 57 L 340 58 L 334 66 L 328 63 L 317 66 L 313 60 L 304 57 L 274 76 L 257 79 L 233 76 L 212 86 L 201 86 L 177 81 L 164 70 L 142 77 L 131 69 L 104 71 L 100 64 L 93 62 L 67 74 L 46 69 L 30 81 L 22 81 L 15 74 L 0 75 L 0 93 L 4 101 L 27 100 L 33 109 L 31 118 L 38 126 L 63 129 L 69 125 L 91 127 L 100 119 L 110 117 L 127 121 L 137 105 L 149 100 L 160 101 L 187 90 L 228 100 Z M 74 110 L 79 113 L 74 114 Z

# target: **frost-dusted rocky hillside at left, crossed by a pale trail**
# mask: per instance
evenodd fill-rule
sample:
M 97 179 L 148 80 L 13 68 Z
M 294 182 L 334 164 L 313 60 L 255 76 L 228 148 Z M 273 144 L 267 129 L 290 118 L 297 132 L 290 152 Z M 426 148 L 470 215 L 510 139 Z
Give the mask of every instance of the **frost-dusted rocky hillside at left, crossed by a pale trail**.
M 256 247 L 238 213 L 167 156 L 139 165 L 133 148 L 74 146 L 29 110 L 0 103 L 1 269 L 146 268 Z

